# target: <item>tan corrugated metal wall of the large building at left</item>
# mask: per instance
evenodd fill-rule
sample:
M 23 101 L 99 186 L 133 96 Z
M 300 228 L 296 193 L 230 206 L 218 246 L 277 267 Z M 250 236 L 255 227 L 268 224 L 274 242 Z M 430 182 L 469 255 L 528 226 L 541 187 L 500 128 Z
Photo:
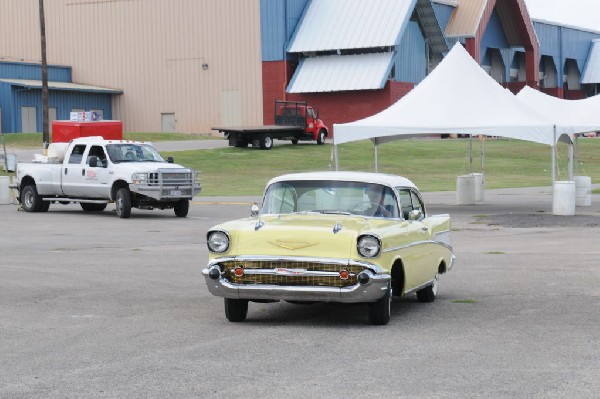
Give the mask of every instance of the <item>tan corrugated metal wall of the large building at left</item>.
M 127 131 L 159 131 L 161 113 L 175 113 L 177 131 L 186 133 L 209 132 L 232 114 L 260 123 L 259 6 L 259 0 L 46 1 L 48 62 L 71 65 L 74 82 L 123 90 L 114 97 L 113 117 Z M 0 57 L 39 62 L 39 43 L 38 1 L 2 0 Z

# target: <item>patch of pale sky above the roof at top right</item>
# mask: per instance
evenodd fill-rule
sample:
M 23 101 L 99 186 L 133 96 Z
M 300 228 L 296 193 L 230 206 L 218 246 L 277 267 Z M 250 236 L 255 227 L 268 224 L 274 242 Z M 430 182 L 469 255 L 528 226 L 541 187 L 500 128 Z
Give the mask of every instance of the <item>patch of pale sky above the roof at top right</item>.
M 525 0 L 534 19 L 600 32 L 600 0 Z

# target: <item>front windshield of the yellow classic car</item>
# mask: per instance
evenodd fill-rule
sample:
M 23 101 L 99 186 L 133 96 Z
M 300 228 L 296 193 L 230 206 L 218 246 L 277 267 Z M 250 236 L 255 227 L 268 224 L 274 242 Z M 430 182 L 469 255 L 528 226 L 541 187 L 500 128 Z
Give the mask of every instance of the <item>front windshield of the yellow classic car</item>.
M 260 214 L 319 212 L 397 218 L 393 190 L 351 181 L 285 181 L 269 186 Z

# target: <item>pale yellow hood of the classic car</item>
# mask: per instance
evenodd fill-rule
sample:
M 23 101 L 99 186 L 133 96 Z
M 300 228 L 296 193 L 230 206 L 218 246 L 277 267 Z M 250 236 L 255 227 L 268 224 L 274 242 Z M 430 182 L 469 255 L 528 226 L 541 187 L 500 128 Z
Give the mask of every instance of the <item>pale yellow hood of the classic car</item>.
M 224 223 L 231 245 L 225 256 L 356 258 L 356 239 L 389 221 L 346 215 L 267 215 Z

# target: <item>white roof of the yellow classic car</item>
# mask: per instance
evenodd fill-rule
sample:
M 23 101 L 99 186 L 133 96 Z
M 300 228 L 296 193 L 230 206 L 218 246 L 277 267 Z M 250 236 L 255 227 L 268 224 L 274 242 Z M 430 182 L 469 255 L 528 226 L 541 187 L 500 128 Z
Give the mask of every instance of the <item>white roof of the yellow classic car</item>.
M 267 186 L 272 183 L 289 180 L 339 180 L 339 181 L 357 181 L 365 183 L 377 183 L 391 187 L 412 187 L 417 189 L 417 186 L 406 177 L 385 174 L 385 173 L 370 173 L 370 172 L 305 172 L 305 173 L 290 173 L 277 176 L 271 179 Z

